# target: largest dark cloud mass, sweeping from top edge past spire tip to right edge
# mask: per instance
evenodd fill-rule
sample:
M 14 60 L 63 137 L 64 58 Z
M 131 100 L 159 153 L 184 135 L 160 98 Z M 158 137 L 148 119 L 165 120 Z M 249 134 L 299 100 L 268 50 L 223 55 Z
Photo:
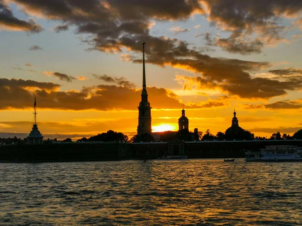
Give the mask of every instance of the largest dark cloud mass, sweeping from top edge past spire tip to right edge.
M 185 41 L 149 34 L 150 22 L 183 20 L 203 14 L 212 25 L 231 33 L 225 40 L 219 37 L 219 46 L 242 54 L 259 53 L 261 43 L 274 45 L 284 40 L 288 28 L 277 22 L 301 12 L 299 0 L 268 0 L 257 4 L 240 0 L 133 0 L 127 4 L 122 0 L 107 0 L 101 4 L 95 0 L 85 3 L 66 0 L 57 4 L 46 0 L 14 0 L 14 3 L 29 15 L 74 26 L 75 33 L 88 35 L 82 41 L 90 45 L 89 50 L 122 54 L 126 48 L 129 56 L 125 59 L 141 63 L 144 41 L 147 63 L 200 73 L 195 79 L 198 88 L 208 84 L 230 95 L 270 98 L 285 95 L 287 90 L 296 90 L 301 85 L 300 81 L 289 79 L 252 78 L 251 73 L 270 67 L 268 62 L 210 57 L 196 47 L 189 48 L 190 44 Z M 214 41 L 216 43 L 216 39 Z

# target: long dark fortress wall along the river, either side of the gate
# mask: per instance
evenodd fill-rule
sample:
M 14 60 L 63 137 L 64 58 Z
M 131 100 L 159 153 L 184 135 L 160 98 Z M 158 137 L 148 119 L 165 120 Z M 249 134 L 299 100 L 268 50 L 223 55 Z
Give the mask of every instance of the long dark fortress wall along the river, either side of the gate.
M 295 145 L 302 140 L 185 142 L 189 158 L 244 158 L 246 150 L 268 145 Z M 0 162 L 98 161 L 157 159 L 168 151 L 168 143 L 62 143 L 0 146 Z

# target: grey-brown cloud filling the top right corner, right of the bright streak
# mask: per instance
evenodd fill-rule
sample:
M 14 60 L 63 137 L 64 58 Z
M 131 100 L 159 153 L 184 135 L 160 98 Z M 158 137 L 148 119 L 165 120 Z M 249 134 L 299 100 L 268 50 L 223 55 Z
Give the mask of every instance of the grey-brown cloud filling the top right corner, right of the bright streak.
M 299 0 L 216 0 L 204 1 L 207 19 L 223 31 L 232 32 L 230 38 L 220 40 L 226 51 L 249 54 L 258 53 L 262 45 L 275 45 L 285 40 L 287 30 L 277 21 L 294 17 L 302 12 Z M 227 9 L 227 10 L 226 10 Z M 255 34 L 255 39 L 251 39 Z M 247 43 L 245 43 L 247 42 Z M 248 47 L 248 52 L 244 51 Z

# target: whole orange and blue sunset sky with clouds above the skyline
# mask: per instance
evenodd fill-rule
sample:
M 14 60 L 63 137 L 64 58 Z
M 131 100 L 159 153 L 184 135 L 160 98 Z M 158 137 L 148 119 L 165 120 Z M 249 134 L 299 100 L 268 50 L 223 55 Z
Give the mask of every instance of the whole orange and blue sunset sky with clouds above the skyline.
M 0 0 L 0 137 L 136 134 L 142 42 L 154 131 L 302 129 L 301 0 Z

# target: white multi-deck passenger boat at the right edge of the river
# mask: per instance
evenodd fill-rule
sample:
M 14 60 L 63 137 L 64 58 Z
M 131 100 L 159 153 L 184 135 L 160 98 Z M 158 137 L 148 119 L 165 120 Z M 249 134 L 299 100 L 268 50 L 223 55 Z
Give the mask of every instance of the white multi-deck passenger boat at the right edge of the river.
M 297 146 L 266 146 L 259 151 L 246 151 L 245 161 L 302 161 L 302 148 Z

